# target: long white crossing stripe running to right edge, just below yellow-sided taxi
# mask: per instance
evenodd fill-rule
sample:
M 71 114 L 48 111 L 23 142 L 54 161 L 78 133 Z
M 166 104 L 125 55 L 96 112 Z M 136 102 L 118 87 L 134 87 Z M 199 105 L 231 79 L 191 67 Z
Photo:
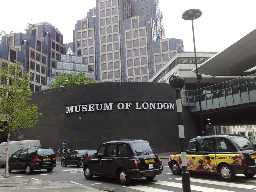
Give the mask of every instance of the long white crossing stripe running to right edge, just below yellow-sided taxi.
M 182 181 L 182 178 L 176 178 L 174 180 L 180 180 Z M 205 184 L 210 184 L 210 180 L 203 180 L 203 179 L 193 179 L 190 178 L 190 182 L 196 182 L 196 183 L 205 183 Z M 244 185 L 240 183 L 228 183 L 228 182 L 221 182 L 221 181 L 213 181 L 214 185 L 220 185 L 220 186 L 226 186 L 226 187 L 234 187 L 234 188 L 243 188 L 243 189 L 253 189 L 256 186 L 253 185 Z

